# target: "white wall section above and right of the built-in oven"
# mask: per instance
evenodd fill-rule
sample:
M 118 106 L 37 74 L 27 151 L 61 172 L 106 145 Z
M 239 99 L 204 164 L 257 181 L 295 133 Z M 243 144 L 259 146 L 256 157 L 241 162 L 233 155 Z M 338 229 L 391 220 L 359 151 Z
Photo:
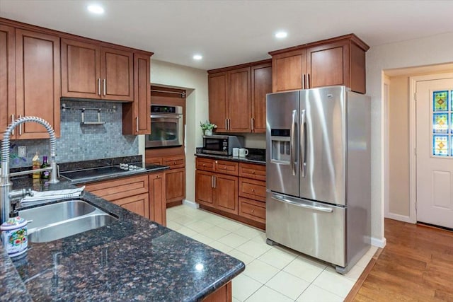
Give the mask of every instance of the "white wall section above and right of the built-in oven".
M 153 60 L 151 57 L 151 83 L 161 86 L 185 88 L 185 199 L 195 202 L 195 148 L 202 146 L 200 121 L 209 118 L 207 72 Z M 143 147 L 142 147 L 143 148 Z

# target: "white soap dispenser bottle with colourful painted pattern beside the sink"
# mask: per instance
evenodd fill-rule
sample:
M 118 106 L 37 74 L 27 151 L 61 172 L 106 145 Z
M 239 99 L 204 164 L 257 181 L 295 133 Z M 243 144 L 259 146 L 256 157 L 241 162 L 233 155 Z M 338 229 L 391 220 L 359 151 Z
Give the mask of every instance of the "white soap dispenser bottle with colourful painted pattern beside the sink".
M 23 255 L 28 248 L 28 221 L 19 217 L 16 203 L 11 204 L 11 207 L 13 210 L 9 214 L 9 219 L 0 226 L 1 240 L 8 256 L 18 257 Z

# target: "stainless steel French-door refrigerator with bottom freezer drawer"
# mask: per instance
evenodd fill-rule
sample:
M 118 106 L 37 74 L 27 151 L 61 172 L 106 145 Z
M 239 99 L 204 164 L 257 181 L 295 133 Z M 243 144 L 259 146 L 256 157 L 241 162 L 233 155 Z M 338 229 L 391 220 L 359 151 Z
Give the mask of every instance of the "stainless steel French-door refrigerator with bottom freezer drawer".
M 344 274 L 370 246 L 370 100 L 345 86 L 266 100 L 266 236 Z

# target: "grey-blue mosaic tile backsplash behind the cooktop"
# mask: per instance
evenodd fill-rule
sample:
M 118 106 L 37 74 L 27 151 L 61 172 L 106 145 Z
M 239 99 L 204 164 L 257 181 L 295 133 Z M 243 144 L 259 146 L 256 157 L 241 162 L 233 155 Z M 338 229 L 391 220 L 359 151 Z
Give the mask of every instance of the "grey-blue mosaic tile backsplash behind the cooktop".
M 57 163 L 87 161 L 99 158 L 134 156 L 139 153 L 138 137 L 122 135 L 122 104 L 112 102 L 92 102 L 81 100 L 62 100 L 67 107 L 103 108 L 101 121 L 105 124 L 81 124 L 81 110 L 61 111 L 61 135 L 57 139 Z M 115 106 L 115 110 L 113 109 Z M 85 121 L 96 122 L 97 110 L 85 110 Z M 38 151 L 49 156 L 49 139 L 23 139 L 11 141 L 11 167 L 32 165 L 31 160 Z M 18 146 L 27 148 L 25 161 L 18 158 Z

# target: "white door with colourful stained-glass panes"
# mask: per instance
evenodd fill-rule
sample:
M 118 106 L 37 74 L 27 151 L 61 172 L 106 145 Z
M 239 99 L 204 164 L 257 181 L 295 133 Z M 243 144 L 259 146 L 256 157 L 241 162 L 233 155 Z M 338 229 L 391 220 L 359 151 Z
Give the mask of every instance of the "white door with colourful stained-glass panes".
M 453 228 L 453 79 L 416 93 L 417 221 Z

